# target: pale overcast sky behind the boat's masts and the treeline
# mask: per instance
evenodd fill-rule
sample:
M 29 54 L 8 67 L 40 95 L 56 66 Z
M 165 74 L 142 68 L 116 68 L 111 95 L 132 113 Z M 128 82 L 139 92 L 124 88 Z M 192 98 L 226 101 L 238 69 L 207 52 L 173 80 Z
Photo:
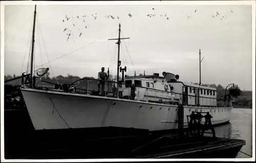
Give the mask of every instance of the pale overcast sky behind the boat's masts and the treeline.
M 165 71 L 199 82 L 201 49 L 202 83 L 252 89 L 249 5 L 37 5 L 36 10 L 35 69 L 49 67 L 51 76 L 96 78 L 102 66 L 116 75 L 117 44 L 108 39 L 118 38 L 120 23 L 121 37 L 130 37 L 120 45 L 127 75 Z M 5 6 L 5 75 L 27 71 L 33 12 L 32 5 Z

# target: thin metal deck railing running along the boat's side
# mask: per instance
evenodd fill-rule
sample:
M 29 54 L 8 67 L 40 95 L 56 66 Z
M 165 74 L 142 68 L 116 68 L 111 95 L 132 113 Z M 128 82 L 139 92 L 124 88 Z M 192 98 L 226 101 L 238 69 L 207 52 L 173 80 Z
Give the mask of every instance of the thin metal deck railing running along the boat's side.
M 86 88 L 79 88 L 77 84 L 80 81 L 86 81 L 86 83 L 83 82 L 83 86 L 86 85 Z M 94 82 L 90 82 L 90 81 L 94 81 Z M 40 81 L 40 82 L 47 82 L 47 81 Z M 82 78 L 79 80 L 76 80 L 74 82 L 72 82 L 69 85 L 69 88 L 72 88 L 72 86 L 76 86 L 76 93 L 81 93 L 81 94 L 87 94 L 87 95 L 93 95 L 97 90 L 98 90 L 98 82 L 104 82 L 104 91 L 103 91 L 103 95 L 101 96 L 108 96 L 108 94 L 112 93 L 114 94 L 113 97 L 117 98 L 117 92 L 112 92 L 110 90 L 112 90 L 113 85 L 115 85 L 116 87 L 119 85 L 119 92 L 121 92 L 120 87 L 122 87 L 122 85 L 126 85 L 130 88 L 130 87 L 135 87 L 135 96 L 136 99 L 134 100 L 140 100 L 140 101 L 155 101 L 155 102 L 171 102 L 171 101 L 176 101 L 178 103 L 182 103 L 183 105 L 188 105 L 188 106 L 205 106 L 205 107 L 217 107 L 217 99 L 216 98 L 211 98 L 211 97 L 202 97 L 202 96 L 194 96 L 194 95 L 185 95 L 182 93 L 178 93 L 178 92 L 173 92 L 173 91 L 165 91 L 165 90 L 159 90 L 159 89 L 154 89 L 154 88 L 148 88 L 148 87 L 143 87 L 143 86 L 137 86 L 137 85 L 131 85 L 131 84 L 125 84 L 125 83 L 117 83 L 115 81 L 103 81 L 103 80 L 98 80 L 98 79 L 92 79 L 92 78 Z M 37 82 L 38 83 L 38 82 Z M 50 83 L 50 82 L 47 82 Z M 52 83 L 52 84 L 56 84 L 56 83 Z M 93 86 L 92 86 L 93 85 Z M 91 86 L 91 88 L 90 88 Z M 102 85 L 101 85 L 102 86 Z M 101 88 L 100 88 L 101 90 Z M 109 90 L 109 91 L 108 91 Z M 141 94 L 141 91 L 143 93 L 143 95 Z M 149 95 L 149 92 L 152 91 L 154 92 L 154 94 L 151 96 Z M 74 91 L 73 91 L 74 92 Z M 160 94 L 159 94 L 160 92 Z M 158 94 L 157 94 L 158 93 Z M 159 97 L 159 96 L 160 97 Z M 143 97 L 141 97 L 143 96 Z M 119 96 L 120 98 L 124 98 L 123 96 Z M 128 99 L 131 99 L 131 95 L 129 95 L 128 97 L 126 97 Z M 187 98 L 187 100 L 186 100 Z M 193 100 L 192 98 L 194 98 L 195 104 L 193 104 Z M 198 101 L 197 98 L 199 99 L 199 104 L 196 103 L 196 101 Z M 152 100 L 153 99 L 153 100 Z M 186 101 L 184 101 L 186 100 Z M 178 104 L 177 103 L 177 104 Z M 224 102 L 223 102 L 224 103 Z M 221 107 L 223 107 L 224 105 L 221 104 Z

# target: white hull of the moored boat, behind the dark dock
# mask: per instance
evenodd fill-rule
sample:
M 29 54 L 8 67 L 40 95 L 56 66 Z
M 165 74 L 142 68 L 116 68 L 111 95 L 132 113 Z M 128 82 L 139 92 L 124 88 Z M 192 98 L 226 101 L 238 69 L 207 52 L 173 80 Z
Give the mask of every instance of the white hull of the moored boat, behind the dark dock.
M 36 130 L 109 126 L 150 131 L 178 128 L 176 105 L 31 88 L 21 91 Z M 232 111 L 232 107 L 184 106 L 184 125 L 187 125 L 186 115 L 196 109 L 209 111 L 213 125 L 228 122 Z

